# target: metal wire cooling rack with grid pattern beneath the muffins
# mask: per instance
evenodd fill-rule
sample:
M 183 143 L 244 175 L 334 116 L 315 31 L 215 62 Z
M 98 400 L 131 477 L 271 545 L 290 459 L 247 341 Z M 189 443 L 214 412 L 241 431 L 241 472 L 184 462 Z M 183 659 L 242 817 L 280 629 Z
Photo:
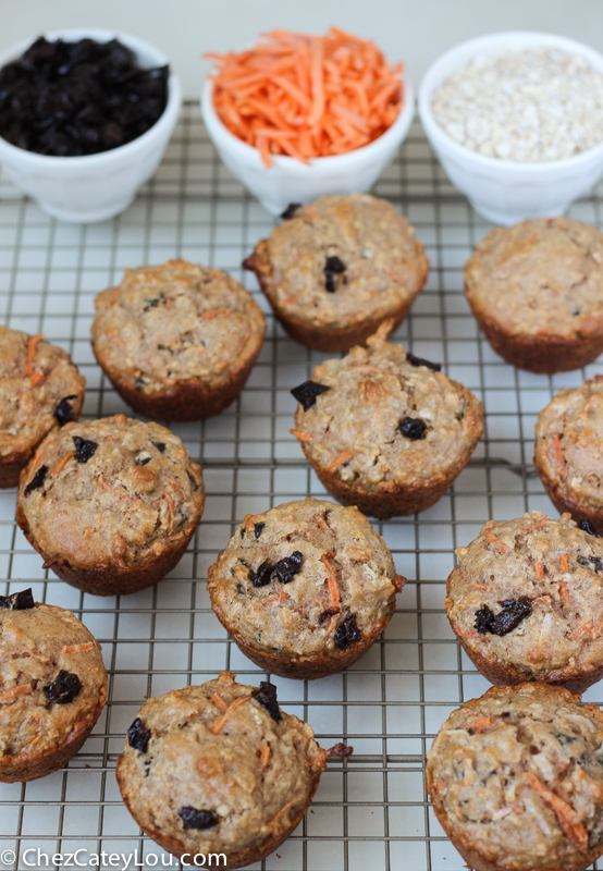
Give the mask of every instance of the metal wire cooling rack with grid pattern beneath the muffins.
M 487 410 L 485 432 L 434 507 L 374 524 L 398 573 L 409 578 L 383 638 L 344 674 L 315 682 L 272 678 L 281 704 L 307 720 L 323 746 L 343 738 L 355 752 L 331 760 L 295 834 L 264 863 L 253 866 L 270 871 L 465 867 L 429 808 L 424 755 L 450 712 L 489 685 L 450 629 L 445 579 L 454 549 L 475 538 L 488 518 L 533 508 L 554 513 L 532 466 L 537 414 L 562 387 L 603 372 L 603 364 L 595 364 L 536 376 L 491 351 L 465 303 L 462 280 L 465 260 L 490 225 L 450 185 L 418 126 L 374 193 L 408 217 L 431 262 L 427 287 L 396 339 L 420 356 L 442 360 L 448 376 L 476 393 Z M 602 226 L 602 203 L 603 192 L 595 191 L 571 214 Z M 44 332 L 72 354 L 88 382 L 86 416 L 131 414 L 96 366 L 89 344 L 94 297 L 119 282 L 125 267 L 182 256 L 226 269 L 256 294 L 268 316 L 266 343 L 241 398 L 210 420 L 173 427 L 202 465 L 206 511 L 194 545 L 152 589 L 104 599 L 63 584 L 42 569 L 16 528 L 14 491 L 0 491 L 3 592 L 32 586 L 36 599 L 74 611 L 102 643 L 109 672 L 106 710 L 69 766 L 29 784 L 0 785 L 0 871 L 61 868 L 65 860 L 61 866 L 53 855 L 76 850 L 86 868 L 100 862 L 125 869 L 135 860 L 145 869 L 167 864 L 168 854 L 141 837 L 120 800 L 114 768 L 125 729 L 148 696 L 202 683 L 222 668 L 243 682 L 266 677 L 230 642 L 210 609 L 206 579 L 245 514 L 324 492 L 288 432 L 295 408 L 288 390 L 325 355 L 284 334 L 255 278 L 241 269 L 272 225 L 220 163 L 194 105 L 185 107 L 153 180 L 113 221 L 57 222 L 0 180 L 0 317 L 9 327 Z M 595 686 L 584 698 L 602 702 L 603 690 Z M 96 859 L 101 851 L 106 858 Z M 179 867 L 175 859 L 171 867 Z

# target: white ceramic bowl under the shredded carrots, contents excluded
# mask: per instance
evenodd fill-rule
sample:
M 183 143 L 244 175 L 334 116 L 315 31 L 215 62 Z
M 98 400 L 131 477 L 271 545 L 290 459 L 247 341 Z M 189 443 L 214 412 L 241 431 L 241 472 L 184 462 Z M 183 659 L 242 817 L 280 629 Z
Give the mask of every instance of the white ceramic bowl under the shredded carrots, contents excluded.
M 404 105 L 392 126 L 369 145 L 333 157 L 312 158 L 310 164 L 292 157 L 272 156 L 267 169 L 259 150 L 227 130 L 213 106 L 213 83 L 208 78 L 201 95 L 201 114 L 218 154 L 264 209 L 280 214 L 290 203 L 311 203 L 325 194 L 368 191 L 404 140 L 415 114 L 415 98 L 404 81 Z

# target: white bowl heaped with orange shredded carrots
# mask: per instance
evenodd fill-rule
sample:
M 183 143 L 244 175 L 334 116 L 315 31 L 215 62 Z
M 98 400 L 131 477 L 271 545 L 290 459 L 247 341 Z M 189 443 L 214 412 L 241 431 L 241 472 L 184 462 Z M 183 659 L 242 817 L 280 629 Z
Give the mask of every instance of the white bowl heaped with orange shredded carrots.
M 414 97 L 402 63 L 336 27 L 273 30 L 214 61 L 201 96 L 231 172 L 273 214 L 290 203 L 368 191 L 408 133 Z

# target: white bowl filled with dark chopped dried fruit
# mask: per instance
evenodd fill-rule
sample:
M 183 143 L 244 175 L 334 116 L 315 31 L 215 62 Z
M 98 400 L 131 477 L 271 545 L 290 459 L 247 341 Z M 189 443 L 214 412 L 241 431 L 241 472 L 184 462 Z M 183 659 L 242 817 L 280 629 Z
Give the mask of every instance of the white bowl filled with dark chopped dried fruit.
M 2 171 L 47 213 L 113 218 L 157 169 L 182 105 L 161 51 L 65 29 L 0 54 Z

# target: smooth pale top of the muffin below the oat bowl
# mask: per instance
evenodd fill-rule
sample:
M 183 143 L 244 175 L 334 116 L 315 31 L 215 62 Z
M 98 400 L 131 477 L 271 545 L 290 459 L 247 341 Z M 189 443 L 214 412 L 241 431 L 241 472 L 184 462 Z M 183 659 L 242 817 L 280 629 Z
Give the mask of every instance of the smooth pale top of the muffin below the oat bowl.
M 465 266 L 471 307 L 512 335 L 603 331 L 603 233 L 575 218 L 497 226 Z

